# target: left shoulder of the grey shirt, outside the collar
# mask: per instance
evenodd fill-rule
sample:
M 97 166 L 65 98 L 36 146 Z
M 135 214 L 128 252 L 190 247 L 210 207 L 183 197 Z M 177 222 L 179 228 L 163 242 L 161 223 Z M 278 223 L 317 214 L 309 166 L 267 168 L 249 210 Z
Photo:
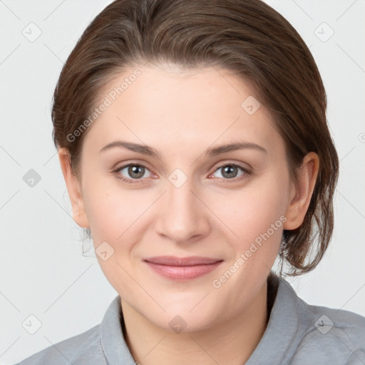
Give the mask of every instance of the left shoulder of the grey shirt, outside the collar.
M 88 331 L 48 346 L 16 365 L 106 364 L 101 347 L 101 324 Z

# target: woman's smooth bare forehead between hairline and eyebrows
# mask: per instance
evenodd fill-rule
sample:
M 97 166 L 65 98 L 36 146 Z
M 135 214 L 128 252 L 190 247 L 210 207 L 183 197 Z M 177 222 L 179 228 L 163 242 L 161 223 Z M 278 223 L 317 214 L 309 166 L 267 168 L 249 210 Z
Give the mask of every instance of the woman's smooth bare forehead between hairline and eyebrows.
M 87 138 L 93 145 L 120 137 L 170 148 L 232 138 L 267 146 L 280 143 L 271 115 L 253 93 L 242 78 L 222 68 L 129 68 L 100 91 L 96 106 L 108 106 Z

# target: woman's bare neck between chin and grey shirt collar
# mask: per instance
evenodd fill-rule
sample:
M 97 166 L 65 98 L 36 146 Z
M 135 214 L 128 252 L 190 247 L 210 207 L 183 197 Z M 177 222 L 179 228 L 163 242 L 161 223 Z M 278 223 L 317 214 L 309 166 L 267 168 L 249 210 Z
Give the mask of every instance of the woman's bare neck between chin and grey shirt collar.
M 267 326 L 267 282 L 244 312 L 208 329 L 175 334 L 155 326 L 121 300 L 125 341 L 140 365 L 242 365 Z M 178 359 L 178 361 L 177 361 Z

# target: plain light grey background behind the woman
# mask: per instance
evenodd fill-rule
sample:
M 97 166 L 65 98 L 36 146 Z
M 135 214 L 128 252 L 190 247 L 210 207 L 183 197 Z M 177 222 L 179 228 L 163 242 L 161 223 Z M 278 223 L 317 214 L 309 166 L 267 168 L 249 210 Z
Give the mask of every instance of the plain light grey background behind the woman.
M 95 326 L 117 295 L 92 250 L 91 257 L 81 255 L 82 231 L 71 218 L 50 118 L 63 62 L 110 2 L 0 1 L 1 364 Z M 317 61 L 341 160 L 331 246 L 314 272 L 288 281 L 309 304 L 365 316 L 365 1 L 267 2 Z M 34 187 L 23 180 L 30 169 L 41 177 Z M 31 314 L 42 324 L 35 334 L 22 325 L 36 325 Z

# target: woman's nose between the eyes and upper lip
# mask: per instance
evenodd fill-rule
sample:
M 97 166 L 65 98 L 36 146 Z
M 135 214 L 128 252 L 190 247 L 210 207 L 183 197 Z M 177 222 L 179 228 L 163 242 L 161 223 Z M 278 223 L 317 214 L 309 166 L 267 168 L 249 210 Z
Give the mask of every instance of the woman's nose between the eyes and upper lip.
M 167 191 L 160 202 L 157 232 L 179 244 L 201 240 L 210 231 L 210 210 L 196 192 L 192 178 L 181 186 L 171 181 L 167 181 Z

